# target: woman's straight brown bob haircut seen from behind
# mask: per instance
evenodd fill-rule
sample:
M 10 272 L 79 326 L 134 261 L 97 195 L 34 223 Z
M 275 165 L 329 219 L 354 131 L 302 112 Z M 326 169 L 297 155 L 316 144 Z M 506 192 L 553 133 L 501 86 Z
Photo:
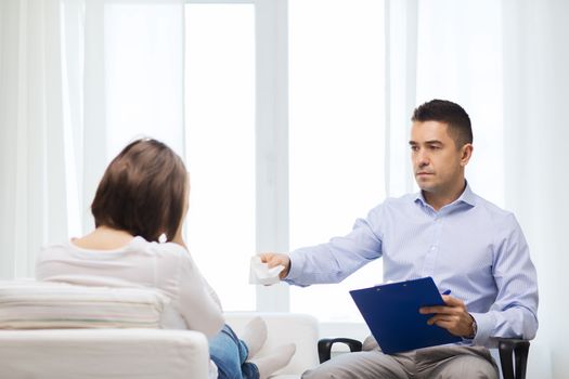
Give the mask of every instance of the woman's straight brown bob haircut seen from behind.
M 171 240 L 185 205 L 187 172 L 166 144 L 130 143 L 108 165 L 91 205 L 95 226 L 126 231 L 146 240 Z

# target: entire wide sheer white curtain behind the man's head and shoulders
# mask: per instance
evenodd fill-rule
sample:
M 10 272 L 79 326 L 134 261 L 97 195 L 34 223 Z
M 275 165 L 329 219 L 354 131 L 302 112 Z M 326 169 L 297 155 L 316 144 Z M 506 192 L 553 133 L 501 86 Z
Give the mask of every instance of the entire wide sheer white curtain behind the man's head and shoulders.
M 475 134 L 467 178 L 474 191 L 516 213 L 538 266 L 541 326 L 528 377 L 564 378 L 569 373 L 569 287 L 562 277 L 569 263 L 562 239 L 569 180 L 561 167 L 569 140 L 564 125 L 569 4 L 388 0 L 386 10 L 388 192 L 413 186 L 405 182 L 412 178 L 409 166 L 401 170 L 409 160 L 413 106 L 434 97 L 463 105 Z

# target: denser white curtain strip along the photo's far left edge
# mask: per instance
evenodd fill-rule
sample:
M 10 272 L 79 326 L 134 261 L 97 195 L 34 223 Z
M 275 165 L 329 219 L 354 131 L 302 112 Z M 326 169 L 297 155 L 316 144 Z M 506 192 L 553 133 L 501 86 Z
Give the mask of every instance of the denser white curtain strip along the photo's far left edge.
M 0 277 L 65 238 L 59 0 L 0 2 Z

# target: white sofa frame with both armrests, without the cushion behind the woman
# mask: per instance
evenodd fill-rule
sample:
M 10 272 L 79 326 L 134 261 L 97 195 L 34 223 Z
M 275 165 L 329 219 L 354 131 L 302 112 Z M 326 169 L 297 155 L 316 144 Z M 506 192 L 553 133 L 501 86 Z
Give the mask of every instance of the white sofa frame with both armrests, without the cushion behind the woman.
M 318 323 L 300 314 L 230 313 L 237 331 L 255 315 L 268 324 L 262 355 L 295 342 L 297 352 L 274 378 L 299 378 L 318 365 Z M 204 335 L 165 329 L 0 330 L 0 378 L 7 379 L 202 379 L 208 375 Z

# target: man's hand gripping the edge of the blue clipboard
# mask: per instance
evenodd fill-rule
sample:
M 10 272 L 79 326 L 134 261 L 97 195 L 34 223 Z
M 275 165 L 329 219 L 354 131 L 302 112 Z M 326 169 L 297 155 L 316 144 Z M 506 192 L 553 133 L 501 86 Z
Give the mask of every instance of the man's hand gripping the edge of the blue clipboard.
M 474 318 L 468 313 L 464 302 L 448 295 L 443 295 L 442 300 L 444 300 L 445 306 L 424 306 L 419 310 L 421 314 L 435 313 L 435 316 L 430 317 L 427 324 L 440 326 L 454 336 L 471 337 L 474 335 Z

